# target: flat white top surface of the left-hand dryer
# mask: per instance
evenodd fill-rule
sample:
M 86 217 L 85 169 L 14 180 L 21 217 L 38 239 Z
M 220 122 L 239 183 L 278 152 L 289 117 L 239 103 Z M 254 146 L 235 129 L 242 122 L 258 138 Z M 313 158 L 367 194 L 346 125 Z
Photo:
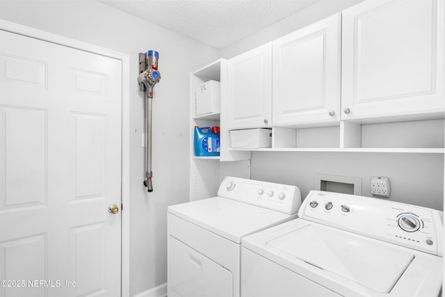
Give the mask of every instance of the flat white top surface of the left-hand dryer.
M 241 243 L 243 236 L 297 216 L 221 197 L 173 205 L 168 212 L 235 243 Z

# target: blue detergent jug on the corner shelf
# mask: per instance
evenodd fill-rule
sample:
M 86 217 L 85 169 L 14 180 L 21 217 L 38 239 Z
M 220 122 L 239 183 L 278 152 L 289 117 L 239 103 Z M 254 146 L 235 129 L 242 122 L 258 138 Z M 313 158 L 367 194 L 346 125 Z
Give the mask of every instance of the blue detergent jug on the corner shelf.
M 210 127 L 195 126 L 195 156 L 219 156 L 220 137 Z

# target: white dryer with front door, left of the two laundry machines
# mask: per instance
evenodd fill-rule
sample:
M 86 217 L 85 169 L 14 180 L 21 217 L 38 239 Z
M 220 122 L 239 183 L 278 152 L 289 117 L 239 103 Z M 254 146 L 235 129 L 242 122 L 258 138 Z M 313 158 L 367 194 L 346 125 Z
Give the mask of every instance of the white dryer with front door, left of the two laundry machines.
M 168 297 L 239 297 L 241 239 L 300 205 L 296 186 L 225 177 L 217 197 L 168 207 Z

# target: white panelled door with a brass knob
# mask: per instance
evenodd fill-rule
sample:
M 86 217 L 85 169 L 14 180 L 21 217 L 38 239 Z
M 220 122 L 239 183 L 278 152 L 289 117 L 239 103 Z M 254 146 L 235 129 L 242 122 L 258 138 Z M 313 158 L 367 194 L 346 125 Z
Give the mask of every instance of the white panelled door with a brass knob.
M 0 40 L 0 296 L 120 296 L 122 62 Z

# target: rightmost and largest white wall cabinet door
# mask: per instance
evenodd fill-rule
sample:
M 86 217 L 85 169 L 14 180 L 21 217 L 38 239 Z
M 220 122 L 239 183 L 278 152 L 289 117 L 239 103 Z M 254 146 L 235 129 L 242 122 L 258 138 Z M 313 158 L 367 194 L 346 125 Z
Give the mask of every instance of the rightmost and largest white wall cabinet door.
M 343 11 L 341 118 L 444 111 L 444 1 L 374 0 Z

